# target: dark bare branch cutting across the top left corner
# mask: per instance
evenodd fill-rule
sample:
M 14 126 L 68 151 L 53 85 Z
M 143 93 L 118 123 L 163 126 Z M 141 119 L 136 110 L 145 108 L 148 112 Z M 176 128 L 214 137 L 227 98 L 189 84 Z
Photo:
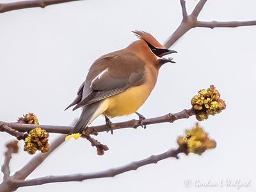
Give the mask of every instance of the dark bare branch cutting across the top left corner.
M 26 9 L 26 8 L 34 8 L 34 7 L 45 8 L 45 6 L 48 6 L 51 4 L 67 3 L 72 1 L 79 1 L 79 0 L 32 0 L 32 1 L 17 1 L 13 3 L 0 3 L 0 13 L 10 12 L 13 10 Z

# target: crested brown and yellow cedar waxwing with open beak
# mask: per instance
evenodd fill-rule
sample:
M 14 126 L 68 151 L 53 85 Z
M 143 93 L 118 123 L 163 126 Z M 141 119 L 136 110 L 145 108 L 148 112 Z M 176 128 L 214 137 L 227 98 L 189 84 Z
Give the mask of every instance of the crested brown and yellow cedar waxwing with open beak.
M 152 92 L 161 65 L 175 63 L 162 57 L 176 51 L 166 49 L 149 33 L 132 32 L 140 40 L 101 56 L 90 67 L 76 99 L 66 108 L 83 108 L 70 134 L 82 133 L 99 115 L 110 125 L 108 118 L 136 113 Z

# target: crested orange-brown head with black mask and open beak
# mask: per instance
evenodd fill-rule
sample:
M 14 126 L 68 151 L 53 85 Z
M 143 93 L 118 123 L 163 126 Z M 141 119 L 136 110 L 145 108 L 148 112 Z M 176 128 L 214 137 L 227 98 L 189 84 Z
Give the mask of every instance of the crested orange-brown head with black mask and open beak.
M 156 65 L 163 65 L 164 63 L 175 63 L 170 58 L 163 58 L 163 56 L 167 54 L 171 54 L 177 51 L 173 51 L 170 49 L 166 49 L 163 45 L 161 45 L 154 36 L 150 35 L 150 33 L 147 33 L 145 31 L 132 31 L 135 33 L 138 38 L 140 38 L 140 43 L 144 44 L 143 50 L 144 52 L 148 52 L 148 54 L 151 54 L 150 56 L 154 56 L 154 60 L 156 61 Z

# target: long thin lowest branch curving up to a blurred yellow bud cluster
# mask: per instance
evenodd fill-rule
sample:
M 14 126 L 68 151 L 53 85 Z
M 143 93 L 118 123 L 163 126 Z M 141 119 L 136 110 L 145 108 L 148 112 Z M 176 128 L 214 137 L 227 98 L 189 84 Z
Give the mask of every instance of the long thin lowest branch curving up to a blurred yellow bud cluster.
M 24 186 L 36 186 L 42 185 L 52 182 L 70 182 L 70 181 L 83 181 L 88 179 L 97 179 L 97 178 L 104 178 L 104 177 L 114 177 L 115 175 L 119 175 L 121 173 L 129 172 L 131 170 L 137 170 L 141 166 L 145 166 L 147 164 L 157 163 L 163 159 L 167 159 L 169 157 L 175 157 L 178 159 L 178 154 L 183 153 L 184 149 L 177 148 L 177 149 L 170 149 L 163 154 L 159 154 L 156 156 L 150 156 L 147 159 L 142 159 L 140 161 L 134 161 L 133 163 L 126 164 L 125 166 L 120 166 L 118 168 L 113 168 L 110 170 L 106 170 L 103 172 L 95 172 L 95 173 L 79 173 L 75 175 L 60 175 L 60 176 L 47 176 L 47 177 L 40 177 L 38 179 L 31 179 L 31 180 L 13 180 L 13 184 L 18 187 Z

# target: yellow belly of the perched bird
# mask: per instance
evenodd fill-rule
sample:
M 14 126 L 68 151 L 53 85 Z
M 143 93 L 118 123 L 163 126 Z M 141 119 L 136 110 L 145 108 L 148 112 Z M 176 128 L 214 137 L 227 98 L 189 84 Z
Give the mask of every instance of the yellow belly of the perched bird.
M 147 84 L 141 84 L 126 90 L 125 92 L 118 93 L 106 99 L 108 102 L 108 109 L 104 111 L 103 115 L 110 118 L 115 116 L 129 115 L 135 113 L 140 106 L 147 100 L 148 95 L 152 88 Z

